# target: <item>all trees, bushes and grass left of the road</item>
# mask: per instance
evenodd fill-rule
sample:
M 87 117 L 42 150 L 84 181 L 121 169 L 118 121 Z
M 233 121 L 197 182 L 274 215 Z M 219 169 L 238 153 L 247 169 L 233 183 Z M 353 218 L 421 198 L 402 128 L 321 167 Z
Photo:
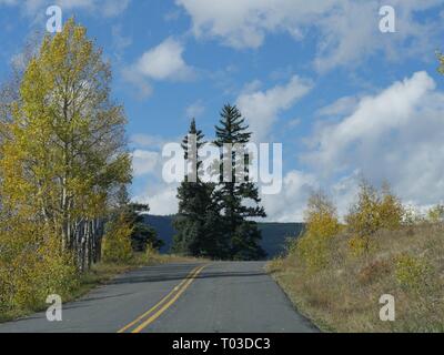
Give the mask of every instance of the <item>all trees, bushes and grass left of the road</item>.
M 0 90 L 0 321 L 63 302 L 160 256 L 132 204 L 123 108 L 73 20 L 23 51 Z

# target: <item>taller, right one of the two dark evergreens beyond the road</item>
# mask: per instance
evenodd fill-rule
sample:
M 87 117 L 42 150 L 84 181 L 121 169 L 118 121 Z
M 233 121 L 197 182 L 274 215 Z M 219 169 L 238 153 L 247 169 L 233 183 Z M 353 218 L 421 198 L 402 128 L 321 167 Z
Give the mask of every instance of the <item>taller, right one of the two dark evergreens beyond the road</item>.
M 215 192 L 218 204 L 223 214 L 223 234 L 229 250 L 226 254 L 236 260 L 254 260 L 265 256 L 259 245 L 261 232 L 258 224 L 251 219 L 265 217 L 265 211 L 260 206 L 261 199 L 258 187 L 249 181 L 249 155 L 239 149 L 226 149 L 225 144 L 244 148 L 251 139 L 251 132 L 241 112 L 234 105 L 226 104 L 221 112 L 220 125 L 215 126 L 216 140 L 214 144 L 224 148 L 221 154 L 222 162 L 229 165 L 224 170 L 220 166 L 220 183 Z M 240 179 L 239 172 L 244 166 L 244 176 Z M 249 205 L 243 204 L 249 201 Z

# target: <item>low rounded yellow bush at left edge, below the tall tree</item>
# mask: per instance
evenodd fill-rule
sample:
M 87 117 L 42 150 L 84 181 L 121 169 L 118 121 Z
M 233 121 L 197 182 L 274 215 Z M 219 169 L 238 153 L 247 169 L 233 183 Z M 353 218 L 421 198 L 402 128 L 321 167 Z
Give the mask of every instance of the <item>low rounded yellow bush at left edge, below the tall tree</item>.
M 50 294 L 70 294 L 79 275 L 51 231 L 17 219 L 8 223 L 0 232 L 0 312 L 32 310 Z

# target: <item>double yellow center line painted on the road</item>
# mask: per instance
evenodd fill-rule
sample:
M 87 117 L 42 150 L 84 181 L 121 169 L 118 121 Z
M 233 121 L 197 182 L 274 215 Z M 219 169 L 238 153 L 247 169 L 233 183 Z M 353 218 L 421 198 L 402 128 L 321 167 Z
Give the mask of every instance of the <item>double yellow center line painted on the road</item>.
M 157 305 L 143 313 L 141 316 L 137 317 L 131 323 L 122 327 L 118 333 L 125 333 L 130 329 L 131 333 L 140 333 L 157 318 L 159 318 L 175 301 L 186 291 L 195 277 L 202 272 L 208 265 L 199 265 L 194 267 L 188 276 L 175 286 L 167 296 L 164 296 Z

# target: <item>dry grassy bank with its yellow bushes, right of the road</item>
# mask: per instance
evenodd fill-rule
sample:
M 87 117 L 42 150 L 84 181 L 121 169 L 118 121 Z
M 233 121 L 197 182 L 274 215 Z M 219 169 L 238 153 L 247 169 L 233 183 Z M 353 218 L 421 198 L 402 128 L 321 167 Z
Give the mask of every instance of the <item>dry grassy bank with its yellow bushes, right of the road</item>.
M 363 181 L 344 220 L 314 193 L 305 232 L 269 264 L 299 311 L 329 332 L 444 332 L 444 206 L 421 214 Z M 384 294 L 394 322 L 380 320 Z

